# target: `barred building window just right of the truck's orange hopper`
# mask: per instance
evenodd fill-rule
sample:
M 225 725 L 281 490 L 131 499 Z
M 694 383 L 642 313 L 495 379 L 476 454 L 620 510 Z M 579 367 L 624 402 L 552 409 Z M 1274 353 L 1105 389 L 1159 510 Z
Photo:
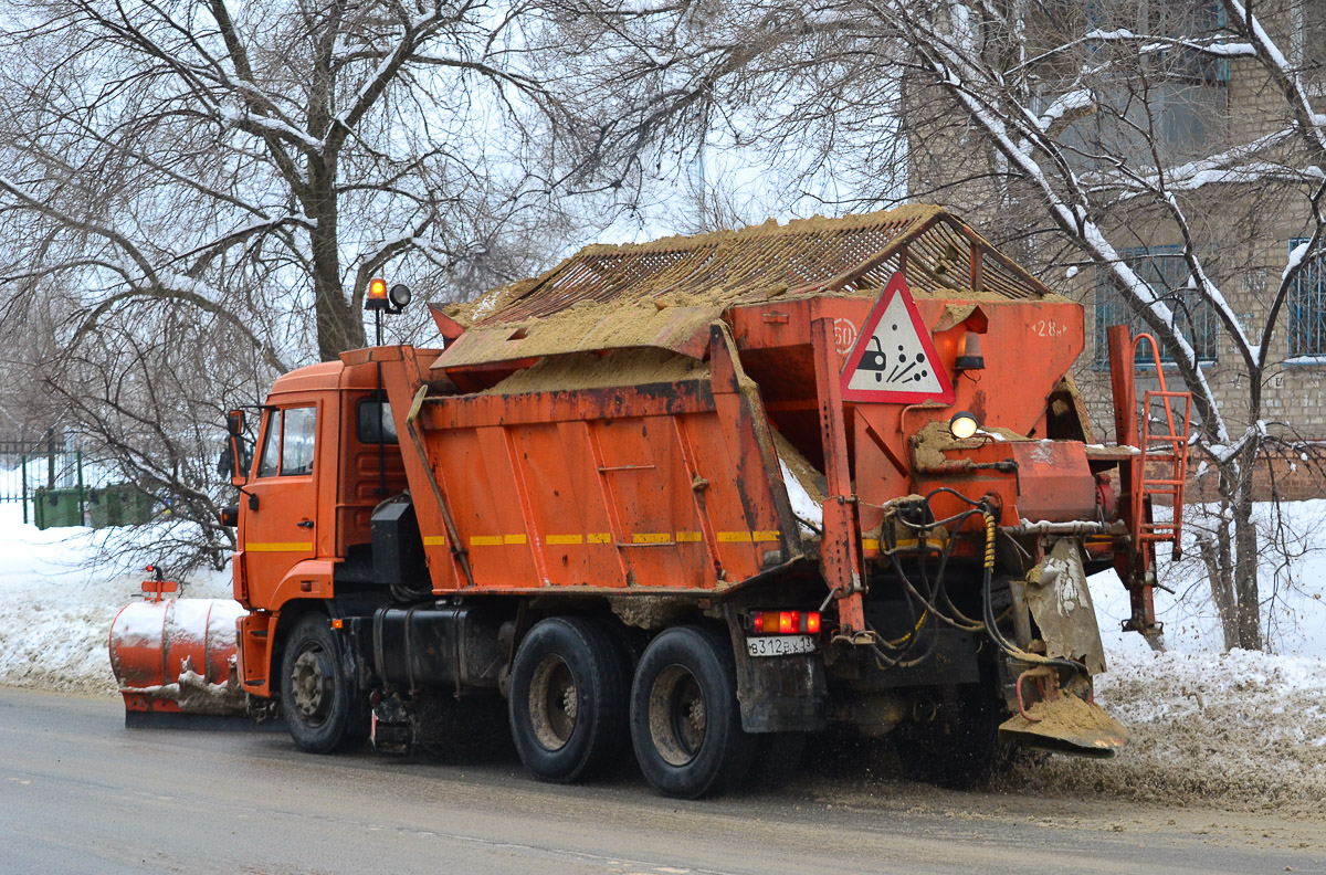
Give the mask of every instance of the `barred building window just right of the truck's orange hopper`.
M 1211 302 L 1188 288 L 1188 265 L 1183 260 L 1181 247 L 1147 247 L 1124 249 L 1120 253 L 1124 264 L 1136 272 L 1174 312 L 1175 322 L 1184 339 L 1197 353 L 1199 362 L 1216 361 L 1216 338 L 1220 335 L 1220 320 Z M 1106 329 L 1111 325 L 1127 325 L 1134 334 L 1152 333 L 1140 316 L 1130 312 L 1109 270 L 1097 269 L 1095 285 L 1095 363 L 1110 366 L 1110 346 Z M 1152 361 L 1151 351 L 1143 345 L 1138 350 L 1138 365 Z M 1174 354 L 1160 347 L 1160 361 L 1174 362 Z

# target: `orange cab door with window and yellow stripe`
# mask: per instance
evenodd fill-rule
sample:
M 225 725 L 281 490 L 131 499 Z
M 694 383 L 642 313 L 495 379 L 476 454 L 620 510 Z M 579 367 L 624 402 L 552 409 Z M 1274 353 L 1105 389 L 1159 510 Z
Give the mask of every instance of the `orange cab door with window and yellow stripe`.
M 253 607 L 271 607 L 269 598 L 289 570 L 317 555 L 322 412 L 317 402 L 290 402 L 264 416 L 253 476 L 241 498 L 248 502 L 241 545 Z

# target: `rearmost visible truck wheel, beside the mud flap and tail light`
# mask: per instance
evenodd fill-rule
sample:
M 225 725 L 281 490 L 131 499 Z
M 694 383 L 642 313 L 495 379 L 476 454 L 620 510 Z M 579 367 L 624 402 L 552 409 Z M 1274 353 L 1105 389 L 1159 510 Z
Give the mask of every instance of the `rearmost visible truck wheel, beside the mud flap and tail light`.
M 631 685 L 631 741 L 663 795 L 696 799 L 745 777 L 754 744 L 741 729 L 727 636 L 680 626 L 650 642 Z

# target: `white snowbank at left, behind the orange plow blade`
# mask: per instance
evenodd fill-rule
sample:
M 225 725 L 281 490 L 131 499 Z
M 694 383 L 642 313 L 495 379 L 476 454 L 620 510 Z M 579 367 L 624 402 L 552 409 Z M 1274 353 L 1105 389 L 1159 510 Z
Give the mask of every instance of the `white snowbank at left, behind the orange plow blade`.
M 21 513 L 17 504 L 0 504 L 0 683 L 114 693 L 110 624 L 119 609 L 142 598 L 146 574 L 89 566 L 114 529 L 38 532 L 24 525 Z M 145 548 L 134 565 L 152 558 Z M 229 593 L 229 571 L 206 573 L 183 587 L 186 597 Z

